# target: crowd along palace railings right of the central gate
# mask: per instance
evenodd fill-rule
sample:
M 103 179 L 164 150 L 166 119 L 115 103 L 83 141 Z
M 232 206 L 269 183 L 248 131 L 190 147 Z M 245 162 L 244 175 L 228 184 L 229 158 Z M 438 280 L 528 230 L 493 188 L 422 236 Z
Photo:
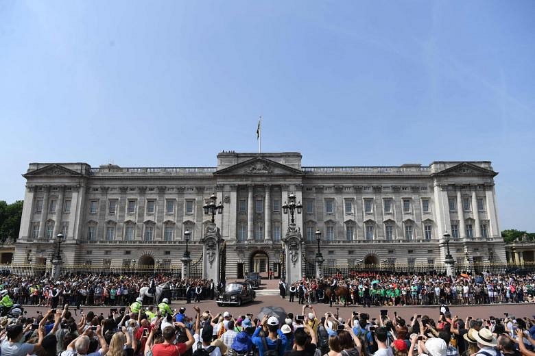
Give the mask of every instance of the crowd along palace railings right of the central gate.
M 326 290 L 346 288 L 342 294 L 354 305 L 439 305 L 533 303 L 535 273 L 491 275 L 460 273 L 444 275 L 374 275 L 345 277 L 340 273 L 326 279 L 307 279 L 294 283 L 281 280 L 281 296 L 300 304 L 326 301 Z M 345 290 L 344 290 L 345 292 Z M 340 294 L 340 292 L 339 292 Z M 328 299 L 328 298 L 327 298 Z M 334 296 L 332 298 L 334 300 Z M 331 301 L 331 302 L 332 302 Z M 342 303 L 339 299 L 338 303 Z

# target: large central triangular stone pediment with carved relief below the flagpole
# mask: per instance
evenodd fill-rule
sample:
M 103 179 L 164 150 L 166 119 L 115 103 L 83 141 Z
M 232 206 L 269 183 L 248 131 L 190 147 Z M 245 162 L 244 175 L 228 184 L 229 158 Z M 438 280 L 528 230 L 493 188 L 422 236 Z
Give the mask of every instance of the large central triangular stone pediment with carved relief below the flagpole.
M 263 157 L 256 157 L 217 170 L 214 175 L 304 175 L 302 170 Z

